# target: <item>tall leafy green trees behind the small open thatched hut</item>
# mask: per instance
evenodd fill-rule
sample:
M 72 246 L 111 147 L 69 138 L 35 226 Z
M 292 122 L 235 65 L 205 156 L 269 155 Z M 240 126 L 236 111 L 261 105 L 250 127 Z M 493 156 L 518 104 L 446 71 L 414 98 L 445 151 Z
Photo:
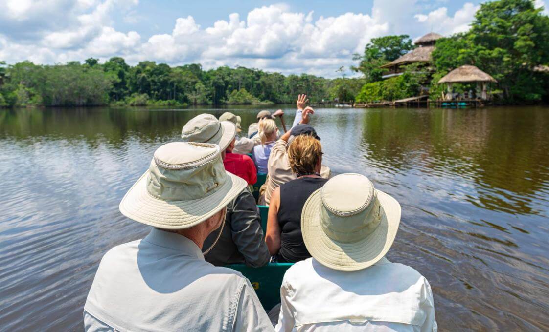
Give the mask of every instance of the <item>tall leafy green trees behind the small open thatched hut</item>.
M 549 63 L 549 18 L 529 0 L 486 2 L 470 30 L 439 39 L 432 56 L 437 71 L 432 90 L 440 73 L 475 65 L 498 81 L 504 102 L 539 101 L 547 98 L 549 78 L 533 68 Z

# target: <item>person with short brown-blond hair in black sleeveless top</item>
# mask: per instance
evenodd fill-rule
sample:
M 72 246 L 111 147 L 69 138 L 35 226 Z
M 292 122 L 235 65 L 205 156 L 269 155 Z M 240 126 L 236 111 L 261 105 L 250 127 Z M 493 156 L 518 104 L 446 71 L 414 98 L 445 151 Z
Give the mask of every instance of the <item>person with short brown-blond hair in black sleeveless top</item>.
M 288 160 L 297 179 L 280 185 L 269 205 L 265 242 L 277 262 L 297 262 L 311 257 L 301 236 L 301 210 L 311 193 L 327 179 L 321 178 L 322 146 L 318 137 L 299 135 L 288 148 Z

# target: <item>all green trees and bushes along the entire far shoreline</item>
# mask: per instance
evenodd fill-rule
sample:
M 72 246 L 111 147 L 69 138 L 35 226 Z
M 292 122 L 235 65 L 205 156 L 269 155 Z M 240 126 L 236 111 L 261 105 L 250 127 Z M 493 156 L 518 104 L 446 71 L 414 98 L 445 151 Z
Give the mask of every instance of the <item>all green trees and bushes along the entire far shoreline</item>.
M 104 63 L 36 65 L 0 61 L 0 107 L 178 106 L 289 104 L 306 93 L 322 100 L 379 102 L 429 93 L 437 100 L 440 78 L 462 65 L 474 65 L 497 80 L 490 99 L 500 105 L 549 102 L 549 17 L 530 0 L 498 0 L 480 5 L 467 32 L 436 40 L 428 64 L 410 64 L 383 79 L 381 66 L 416 48 L 408 35 L 373 38 L 351 70 L 360 77 L 323 78 L 227 66 L 203 70 L 200 64 L 171 67 L 120 57 Z M 344 73 L 340 67 L 338 72 Z M 474 83 L 453 84 L 453 91 L 475 90 Z

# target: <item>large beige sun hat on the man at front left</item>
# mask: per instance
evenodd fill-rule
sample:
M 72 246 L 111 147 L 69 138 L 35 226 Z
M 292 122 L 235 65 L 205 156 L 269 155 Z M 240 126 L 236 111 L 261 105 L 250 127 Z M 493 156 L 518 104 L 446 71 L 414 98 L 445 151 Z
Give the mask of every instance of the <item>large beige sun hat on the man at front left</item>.
M 122 198 L 120 212 L 154 227 L 189 228 L 226 207 L 246 185 L 225 170 L 218 145 L 171 142 L 154 152 L 149 169 Z

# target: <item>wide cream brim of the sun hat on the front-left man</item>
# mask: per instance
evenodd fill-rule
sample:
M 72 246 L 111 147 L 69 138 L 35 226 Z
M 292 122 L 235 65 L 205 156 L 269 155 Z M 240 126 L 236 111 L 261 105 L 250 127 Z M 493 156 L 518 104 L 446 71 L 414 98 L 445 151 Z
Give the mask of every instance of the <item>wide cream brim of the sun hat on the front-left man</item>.
M 128 218 L 158 228 L 178 230 L 193 227 L 216 214 L 238 196 L 247 182 L 227 172 L 227 181 L 216 192 L 191 201 L 163 201 L 147 192 L 147 170 L 120 202 Z

